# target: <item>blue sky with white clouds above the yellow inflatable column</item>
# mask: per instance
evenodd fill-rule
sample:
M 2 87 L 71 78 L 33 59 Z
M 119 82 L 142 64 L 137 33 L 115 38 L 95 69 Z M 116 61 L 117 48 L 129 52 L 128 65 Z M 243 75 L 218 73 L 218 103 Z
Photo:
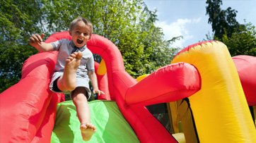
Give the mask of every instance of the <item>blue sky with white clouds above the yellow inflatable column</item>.
M 186 47 L 213 35 L 206 15 L 206 0 L 144 0 L 149 10 L 157 10 L 156 25 L 163 29 L 165 39 L 183 36 L 173 47 Z M 256 26 L 256 0 L 222 0 L 221 9 L 231 7 L 238 11 L 238 23 Z

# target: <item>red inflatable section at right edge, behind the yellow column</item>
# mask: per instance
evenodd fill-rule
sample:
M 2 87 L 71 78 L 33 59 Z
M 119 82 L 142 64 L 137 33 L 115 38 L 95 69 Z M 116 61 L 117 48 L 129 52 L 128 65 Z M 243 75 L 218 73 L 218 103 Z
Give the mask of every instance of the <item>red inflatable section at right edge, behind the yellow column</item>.
M 233 56 L 243 92 L 249 106 L 256 105 L 256 57 L 255 56 Z

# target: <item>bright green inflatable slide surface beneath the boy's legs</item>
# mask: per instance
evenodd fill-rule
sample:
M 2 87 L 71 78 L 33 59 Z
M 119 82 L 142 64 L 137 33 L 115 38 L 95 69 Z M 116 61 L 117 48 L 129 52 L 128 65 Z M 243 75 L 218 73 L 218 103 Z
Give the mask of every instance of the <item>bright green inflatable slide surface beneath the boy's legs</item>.
M 90 101 L 91 123 L 97 131 L 91 143 L 136 143 L 139 139 L 129 123 L 124 119 L 115 101 Z M 76 107 L 72 101 L 65 101 L 57 106 L 57 117 L 52 131 L 52 143 L 83 142 L 80 123 L 76 116 Z

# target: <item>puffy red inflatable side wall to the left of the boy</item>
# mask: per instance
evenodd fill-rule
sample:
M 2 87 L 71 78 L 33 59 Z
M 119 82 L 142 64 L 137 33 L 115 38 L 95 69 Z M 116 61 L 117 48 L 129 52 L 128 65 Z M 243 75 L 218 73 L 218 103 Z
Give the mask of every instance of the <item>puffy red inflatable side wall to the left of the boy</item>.
M 0 142 L 31 142 L 35 137 L 52 96 L 57 96 L 48 88 L 55 56 L 40 53 L 28 58 L 21 81 L 1 93 Z

